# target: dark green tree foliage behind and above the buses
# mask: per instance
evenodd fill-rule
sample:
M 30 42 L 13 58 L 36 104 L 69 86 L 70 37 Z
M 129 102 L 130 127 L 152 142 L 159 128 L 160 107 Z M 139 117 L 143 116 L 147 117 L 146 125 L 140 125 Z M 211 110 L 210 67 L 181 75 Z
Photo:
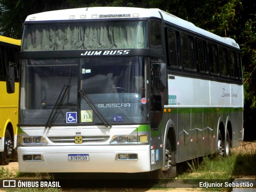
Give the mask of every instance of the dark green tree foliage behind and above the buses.
M 21 38 L 26 16 L 92 6 L 160 8 L 240 45 L 244 75 L 245 139 L 256 140 L 256 2 L 248 0 L 0 0 L 0 34 Z

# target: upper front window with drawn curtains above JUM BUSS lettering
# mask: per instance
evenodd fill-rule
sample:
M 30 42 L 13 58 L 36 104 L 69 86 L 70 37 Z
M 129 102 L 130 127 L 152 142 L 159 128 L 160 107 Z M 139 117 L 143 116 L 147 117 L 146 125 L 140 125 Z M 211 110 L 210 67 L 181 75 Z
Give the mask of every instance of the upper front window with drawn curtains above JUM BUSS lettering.
M 146 48 L 147 22 L 26 24 L 22 51 Z

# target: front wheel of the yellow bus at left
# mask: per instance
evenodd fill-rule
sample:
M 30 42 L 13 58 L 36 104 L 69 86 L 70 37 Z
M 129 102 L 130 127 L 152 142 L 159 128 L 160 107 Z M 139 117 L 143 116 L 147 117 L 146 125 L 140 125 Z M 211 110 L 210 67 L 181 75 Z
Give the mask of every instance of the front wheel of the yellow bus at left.
M 8 129 L 6 129 L 4 134 L 4 151 L 0 152 L 0 164 L 1 165 L 8 165 L 11 157 L 12 157 L 12 150 L 13 150 L 13 141 L 11 134 Z

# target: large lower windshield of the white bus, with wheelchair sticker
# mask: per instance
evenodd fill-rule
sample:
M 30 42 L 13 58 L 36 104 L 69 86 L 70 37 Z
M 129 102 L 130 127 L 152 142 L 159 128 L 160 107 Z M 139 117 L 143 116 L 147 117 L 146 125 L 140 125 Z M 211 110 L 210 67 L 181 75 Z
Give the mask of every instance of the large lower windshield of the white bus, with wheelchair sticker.
M 22 62 L 21 124 L 104 125 L 100 115 L 110 125 L 147 121 L 143 57 Z

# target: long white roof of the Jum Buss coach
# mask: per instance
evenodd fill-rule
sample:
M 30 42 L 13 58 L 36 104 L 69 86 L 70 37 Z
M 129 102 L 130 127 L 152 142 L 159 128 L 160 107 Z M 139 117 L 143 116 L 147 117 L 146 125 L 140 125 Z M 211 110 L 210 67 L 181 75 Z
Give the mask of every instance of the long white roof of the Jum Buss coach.
M 161 18 L 161 15 L 166 22 L 170 22 L 176 26 L 190 30 L 197 34 L 201 34 L 210 39 L 217 40 L 224 44 L 228 44 L 239 49 L 239 45 L 231 38 L 222 38 L 211 32 L 196 27 L 191 22 L 178 18 L 172 14 L 164 12 L 157 8 L 131 8 L 131 7 L 89 7 L 75 8 L 66 10 L 55 10 L 29 15 L 26 22 L 30 21 L 57 21 L 57 20 L 94 20 L 94 19 L 109 19 L 109 18 Z

